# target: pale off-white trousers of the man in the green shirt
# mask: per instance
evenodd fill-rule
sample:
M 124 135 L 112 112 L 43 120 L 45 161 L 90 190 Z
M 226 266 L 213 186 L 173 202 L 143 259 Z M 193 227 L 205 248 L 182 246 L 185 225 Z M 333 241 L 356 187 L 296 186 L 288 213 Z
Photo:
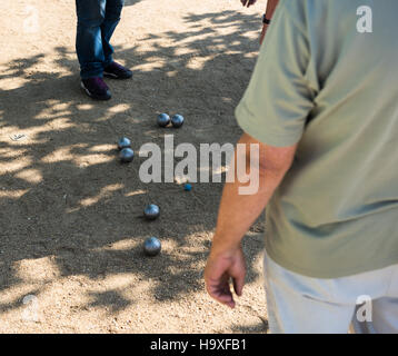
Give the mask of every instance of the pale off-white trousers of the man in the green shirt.
M 292 273 L 267 254 L 263 267 L 272 334 L 398 333 L 398 265 L 335 279 Z

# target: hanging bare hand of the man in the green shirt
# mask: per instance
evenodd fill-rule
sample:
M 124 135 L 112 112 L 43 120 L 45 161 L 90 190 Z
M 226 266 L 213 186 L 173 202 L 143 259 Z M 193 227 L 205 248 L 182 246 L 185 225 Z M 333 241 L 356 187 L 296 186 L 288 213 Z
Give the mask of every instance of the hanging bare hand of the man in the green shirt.
M 241 296 L 245 276 L 246 263 L 241 247 L 218 253 L 213 245 L 205 269 L 205 283 L 209 295 L 233 308 L 235 300 L 229 285 L 230 279 L 232 279 L 235 293 Z

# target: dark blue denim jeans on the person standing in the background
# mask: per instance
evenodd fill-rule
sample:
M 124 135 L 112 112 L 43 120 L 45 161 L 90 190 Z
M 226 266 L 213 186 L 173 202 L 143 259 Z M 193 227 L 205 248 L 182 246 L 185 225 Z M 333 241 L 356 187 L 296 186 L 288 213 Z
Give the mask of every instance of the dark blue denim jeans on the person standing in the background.
M 78 31 L 76 51 L 82 79 L 102 77 L 103 68 L 112 62 L 109 43 L 125 0 L 76 0 Z

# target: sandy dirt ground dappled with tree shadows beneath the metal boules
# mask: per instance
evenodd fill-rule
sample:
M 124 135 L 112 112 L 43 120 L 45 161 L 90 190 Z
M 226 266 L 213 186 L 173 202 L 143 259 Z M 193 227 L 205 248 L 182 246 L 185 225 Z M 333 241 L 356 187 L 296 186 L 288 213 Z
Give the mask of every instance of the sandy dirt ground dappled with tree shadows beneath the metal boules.
M 0 333 L 265 333 L 263 227 L 245 243 L 236 309 L 205 293 L 221 184 L 143 184 L 116 141 L 236 142 L 233 109 L 266 1 L 129 0 L 113 37 L 135 77 L 94 102 L 79 88 L 73 0 L 0 2 Z M 185 126 L 156 126 L 158 112 Z M 149 202 L 161 217 L 142 219 Z M 158 236 L 156 258 L 142 241 Z

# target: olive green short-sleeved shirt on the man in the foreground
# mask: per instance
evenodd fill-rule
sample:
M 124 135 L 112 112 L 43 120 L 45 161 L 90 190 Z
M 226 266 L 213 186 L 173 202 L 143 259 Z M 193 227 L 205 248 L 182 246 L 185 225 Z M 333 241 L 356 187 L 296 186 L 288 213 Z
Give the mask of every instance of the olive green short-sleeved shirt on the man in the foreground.
M 278 4 L 236 116 L 259 141 L 299 142 L 267 207 L 266 249 L 285 268 L 398 264 L 397 17 L 397 0 Z

